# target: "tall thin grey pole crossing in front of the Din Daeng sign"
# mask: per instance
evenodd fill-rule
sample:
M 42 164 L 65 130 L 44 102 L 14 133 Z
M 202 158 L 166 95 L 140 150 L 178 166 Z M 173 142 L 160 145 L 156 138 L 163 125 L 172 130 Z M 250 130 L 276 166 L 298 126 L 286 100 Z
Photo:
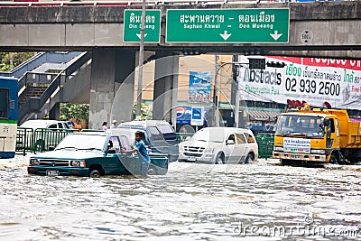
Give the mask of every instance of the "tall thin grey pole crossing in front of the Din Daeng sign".
M 144 56 L 144 24 L 145 24 L 145 1 L 142 2 L 142 18 L 141 18 L 141 42 L 139 47 L 139 74 L 138 74 L 138 91 L 136 97 L 136 112 L 135 117 L 139 118 L 142 116 L 141 106 L 142 106 L 142 86 L 143 86 L 143 56 Z

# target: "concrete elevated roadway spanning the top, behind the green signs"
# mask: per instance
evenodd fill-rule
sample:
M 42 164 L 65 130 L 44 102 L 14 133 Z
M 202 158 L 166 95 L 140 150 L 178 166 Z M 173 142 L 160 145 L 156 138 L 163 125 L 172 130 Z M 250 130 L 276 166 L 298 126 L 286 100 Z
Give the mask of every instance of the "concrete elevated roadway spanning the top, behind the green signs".
M 361 2 L 250 3 L 147 1 L 162 11 L 161 41 L 145 43 L 145 51 L 235 53 L 361 58 Z M 289 8 L 288 43 L 165 42 L 168 9 Z M 123 42 L 125 9 L 141 2 L 0 2 L 0 51 L 92 51 L 96 48 L 138 50 Z

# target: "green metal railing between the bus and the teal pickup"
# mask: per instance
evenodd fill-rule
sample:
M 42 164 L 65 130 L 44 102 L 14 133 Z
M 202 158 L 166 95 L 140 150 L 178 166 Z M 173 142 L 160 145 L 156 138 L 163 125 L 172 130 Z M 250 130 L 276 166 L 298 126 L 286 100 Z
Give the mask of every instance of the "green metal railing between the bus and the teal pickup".
M 16 133 L 16 153 L 42 153 L 49 151 L 49 147 L 57 146 L 68 134 L 77 129 L 51 129 L 18 127 Z

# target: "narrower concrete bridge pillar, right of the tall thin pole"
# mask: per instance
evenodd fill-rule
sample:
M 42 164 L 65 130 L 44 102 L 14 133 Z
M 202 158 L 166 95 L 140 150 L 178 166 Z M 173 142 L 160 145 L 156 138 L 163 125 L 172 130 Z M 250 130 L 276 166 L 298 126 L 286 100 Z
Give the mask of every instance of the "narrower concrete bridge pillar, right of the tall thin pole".
M 155 60 L 153 119 L 171 121 L 176 124 L 179 56 Z

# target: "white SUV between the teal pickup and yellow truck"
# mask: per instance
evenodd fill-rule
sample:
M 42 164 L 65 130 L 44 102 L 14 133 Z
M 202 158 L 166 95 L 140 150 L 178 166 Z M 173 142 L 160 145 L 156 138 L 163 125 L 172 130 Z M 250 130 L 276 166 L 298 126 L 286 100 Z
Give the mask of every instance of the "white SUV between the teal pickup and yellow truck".
M 180 143 L 179 162 L 255 162 L 258 144 L 251 130 L 233 127 L 206 127 Z

